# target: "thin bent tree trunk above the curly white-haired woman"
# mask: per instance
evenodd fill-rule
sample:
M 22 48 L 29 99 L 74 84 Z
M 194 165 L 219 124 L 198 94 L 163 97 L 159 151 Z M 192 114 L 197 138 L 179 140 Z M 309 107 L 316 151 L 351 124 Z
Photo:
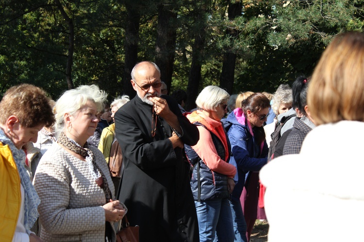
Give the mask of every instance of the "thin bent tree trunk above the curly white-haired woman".
M 68 43 L 68 55 L 67 55 L 67 64 L 66 64 L 66 79 L 67 79 L 67 85 L 68 89 L 74 89 L 73 81 L 72 81 L 72 65 L 73 65 L 73 52 L 74 52 L 74 46 L 75 46 L 75 31 L 73 26 L 73 20 L 70 18 L 66 11 L 63 9 L 62 4 L 59 0 L 54 0 L 56 3 L 57 8 L 61 12 L 62 16 L 66 20 L 68 24 L 68 30 L 69 30 L 69 43 Z

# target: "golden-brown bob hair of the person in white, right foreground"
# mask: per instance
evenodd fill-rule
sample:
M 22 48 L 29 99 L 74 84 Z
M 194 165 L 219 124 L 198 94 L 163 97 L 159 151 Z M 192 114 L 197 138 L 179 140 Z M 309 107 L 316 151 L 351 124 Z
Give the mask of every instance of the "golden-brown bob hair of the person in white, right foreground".
M 363 35 L 349 32 L 337 36 L 317 64 L 307 99 L 318 125 L 364 121 Z

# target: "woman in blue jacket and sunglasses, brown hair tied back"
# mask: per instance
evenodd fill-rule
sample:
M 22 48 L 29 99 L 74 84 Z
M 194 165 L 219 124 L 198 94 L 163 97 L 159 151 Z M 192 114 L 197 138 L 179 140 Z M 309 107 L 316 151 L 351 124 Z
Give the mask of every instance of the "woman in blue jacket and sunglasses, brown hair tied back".
M 269 115 L 269 100 L 254 93 L 231 112 L 225 122 L 232 147 L 231 163 L 237 167 L 230 206 L 235 241 L 249 241 L 257 217 L 258 172 L 267 162 L 268 147 L 263 123 Z M 244 212 L 243 212 L 244 209 Z

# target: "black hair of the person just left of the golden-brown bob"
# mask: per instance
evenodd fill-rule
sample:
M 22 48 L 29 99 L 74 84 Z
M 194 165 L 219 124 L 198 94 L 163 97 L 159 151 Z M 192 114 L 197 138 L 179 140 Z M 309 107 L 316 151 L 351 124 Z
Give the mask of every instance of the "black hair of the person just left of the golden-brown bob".
M 293 102 L 292 107 L 307 116 L 305 106 L 307 105 L 307 90 L 311 77 L 298 76 L 292 84 Z

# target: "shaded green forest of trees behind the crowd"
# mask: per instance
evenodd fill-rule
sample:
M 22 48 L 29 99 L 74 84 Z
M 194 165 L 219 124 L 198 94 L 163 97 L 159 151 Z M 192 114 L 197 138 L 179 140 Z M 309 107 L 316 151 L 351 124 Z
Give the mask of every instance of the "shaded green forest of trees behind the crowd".
M 191 109 L 207 85 L 274 92 L 310 76 L 335 35 L 363 28 L 364 0 L 0 0 L 0 93 L 133 97 L 132 67 L 148 60 Z

